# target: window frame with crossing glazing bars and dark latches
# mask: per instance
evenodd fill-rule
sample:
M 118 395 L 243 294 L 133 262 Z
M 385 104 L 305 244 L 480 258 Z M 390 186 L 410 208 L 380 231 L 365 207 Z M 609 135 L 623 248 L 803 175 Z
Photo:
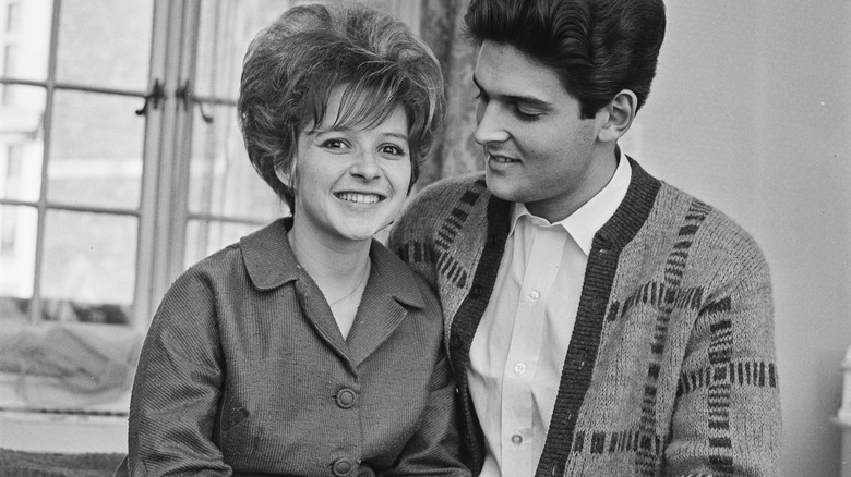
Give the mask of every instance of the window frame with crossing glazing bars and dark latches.
M 415 32 L 419 30 L 420 0 L 384 0 L 391 5 L 391 13 L 408 23 Z M 45 274 L 46 228 L 49 211 L 88 212 L 133 217 L 136 220 L 135 273 L 133 302 L 129 326 L 100 325 L 92 322 L 64 322 L 81 327 L 119 327 L 137 332 L 146 331 L 151 319 L 173 280 L 185 269 L 185 234 L 191 220 L 218 224 L 263 225 L 267 220 L 257 220 L 239 216 L 220 216 L 190 211 L 190 162 L 192 151 L 192 130 L 194 121 L 201 119 L 204 106 L 236 107 L 232 98 L 216 96 L 195 96 L 193 85 L 196 80 L 199 32 L 202 0 L 153 0 L 152 35 L 149 45 L 149 64 L 147 89 L 92 86 L 73 82 L 57 81 L 59 64 L 60 20 L 67 0 L 45 0 L 50 8 L 50 27 L 48 40 L 47 74 L 44 81 L 17 77 L 14 72 L 0 72 L 0 85 L 4 94 L 8 86 L 31 86 L 41 88 L 45 94 L 45 110 L 41 119 L 44 148 L 41 150 L 40 184 L 37 199 L 2 197 L 0 206 L 27 207 L 36 212 L 35 257 L 29 297 L 28 319 L 25 326 L 55 323 L 45 321 L 43 278 Z M 291 0 L 293 4 L 302 0 Z M 15 7 L 16 5 L 16 7 Z M 23 10 L 20 0 L 7 0 L 2 8 L 3 28 L 7 28 L 7 12 L 14 11 L 20 25 Z M 19 27 L 20 29 L 20 27 Z M 20 32 L 12 32 L 14 39 Z M 10 44 L 11 45 L 11 44 Z M 0 45 L 5 48 L 7 44 Z M 20 54 L 19 54 L 20 58 Z M 5 58 L 3 58 L 5 61 Z M 19 75 L 20 76 L 20 75 Z M 158 101 L 148 101 L 156 86 L 161 86 L 163 95 Z M 135 208 L 101 207 L 79 205 L 62 199 L 48 199 L 48 167 L 52 151 L 53 117 L 56 94 L 58 91 L 79 91 L 135 98 L 140 107 L 145 105 L 144 137 L 142 138 L 142 175 L 140 199 Z M 195 110 L 199 110 L 197 112 Z M 132 114 L 132 111 L 128 111 Z M 185 158 L 185 159 L 183 159 Z

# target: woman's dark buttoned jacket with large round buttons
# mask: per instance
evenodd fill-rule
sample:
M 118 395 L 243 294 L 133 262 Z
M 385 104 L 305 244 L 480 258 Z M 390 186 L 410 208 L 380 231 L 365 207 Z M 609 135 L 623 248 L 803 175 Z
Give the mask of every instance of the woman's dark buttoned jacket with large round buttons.
M 130 408 L 131 475 L 465 476 L 434 293 L 373 241 L 347 339 L 279 220 L 166 294 Z

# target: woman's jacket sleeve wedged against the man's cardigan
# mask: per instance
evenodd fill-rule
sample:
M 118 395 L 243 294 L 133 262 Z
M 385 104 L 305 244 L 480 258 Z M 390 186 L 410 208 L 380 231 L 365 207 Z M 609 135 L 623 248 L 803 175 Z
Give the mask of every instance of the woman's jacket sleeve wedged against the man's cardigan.
M 420 417 L 419 429 L 403 449 L 393 469 L 381 476 L 470 475 L 459 457 L 455 381 L 443 346 L 429 386 L 429 403 Z

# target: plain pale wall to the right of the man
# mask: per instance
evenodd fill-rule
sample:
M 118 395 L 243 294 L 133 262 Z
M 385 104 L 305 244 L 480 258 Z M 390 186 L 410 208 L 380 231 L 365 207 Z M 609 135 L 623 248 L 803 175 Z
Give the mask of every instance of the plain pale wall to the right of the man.
M 624 149 L 762 245 L 783 475 L 838 476 L 830 418 L 851 345 L 851 2 L 670 0 L 668 14 L 654 91 Z

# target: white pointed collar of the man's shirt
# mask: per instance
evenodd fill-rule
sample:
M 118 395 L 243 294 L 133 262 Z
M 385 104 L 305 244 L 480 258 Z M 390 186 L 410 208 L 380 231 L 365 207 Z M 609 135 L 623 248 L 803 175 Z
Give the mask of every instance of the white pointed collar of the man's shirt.
M 615 168 L 609 183 L 567 218 L 552 223 L 552 225 L 564 228 L 585 255 L 591 253 L 594 235 L 612 218 L 626 196 L 626 189 L 630 188 L 630 179 L 632 176 L 630 161 L 623 157 L 620 147 L 615 147 L 615 156 L 618 158 L 618 168 Z M 512 207 L 508 235 L 514 233 L 518 221 L 524 217 L 530 223 L 544 227 L 550 224 L 547 219 L 532 216 L 525 204 L 515 203 Z

